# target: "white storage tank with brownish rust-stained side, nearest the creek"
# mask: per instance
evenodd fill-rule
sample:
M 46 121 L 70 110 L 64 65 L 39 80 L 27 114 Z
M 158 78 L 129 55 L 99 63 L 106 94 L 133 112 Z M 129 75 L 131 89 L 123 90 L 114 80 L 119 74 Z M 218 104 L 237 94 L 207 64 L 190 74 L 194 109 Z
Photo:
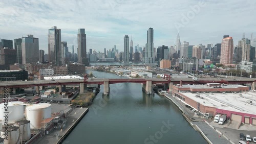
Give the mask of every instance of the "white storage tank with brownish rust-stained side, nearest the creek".
M 31 129 L 43 128 L 44 119 L 51 117 L 51 104 L 40 103 L 26 107 L 26 117 Z

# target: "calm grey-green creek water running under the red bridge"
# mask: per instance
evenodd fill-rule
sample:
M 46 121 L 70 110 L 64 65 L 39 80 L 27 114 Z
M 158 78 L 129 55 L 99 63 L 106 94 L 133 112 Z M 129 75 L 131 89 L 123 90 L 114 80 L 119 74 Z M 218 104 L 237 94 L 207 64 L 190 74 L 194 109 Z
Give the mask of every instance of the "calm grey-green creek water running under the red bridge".
M 87 74 L 91 71 L 97 78 L 126 78 L 94 70 Z M 102 96 L 103 85 L 100 89 L 63 143 L 208 143 L 172 102 L 156 93 L 146 95 L 140 83 L 111 84 L 109 96 Z

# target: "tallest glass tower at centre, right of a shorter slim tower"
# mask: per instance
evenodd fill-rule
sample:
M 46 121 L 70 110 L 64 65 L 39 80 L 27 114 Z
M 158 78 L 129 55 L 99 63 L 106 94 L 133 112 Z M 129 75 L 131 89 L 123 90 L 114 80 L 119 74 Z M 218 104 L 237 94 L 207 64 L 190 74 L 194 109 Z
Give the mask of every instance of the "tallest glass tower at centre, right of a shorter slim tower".
M 143 62 L 145 63 L 145 65 L 154 65 L 155 63 L 153 28 L 147 30 L 147 43 L 144 52 Z

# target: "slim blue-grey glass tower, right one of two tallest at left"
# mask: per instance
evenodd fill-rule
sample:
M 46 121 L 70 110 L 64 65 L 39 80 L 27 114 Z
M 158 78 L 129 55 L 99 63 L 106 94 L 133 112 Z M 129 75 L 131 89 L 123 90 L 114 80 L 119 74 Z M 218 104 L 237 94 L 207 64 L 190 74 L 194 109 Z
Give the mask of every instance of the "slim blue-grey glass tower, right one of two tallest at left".
M 88 58 L 86 57 L 86 33 L 84 29 L 78 29 L 77 44 L 78 62 L 85 65 L 89 65 Z

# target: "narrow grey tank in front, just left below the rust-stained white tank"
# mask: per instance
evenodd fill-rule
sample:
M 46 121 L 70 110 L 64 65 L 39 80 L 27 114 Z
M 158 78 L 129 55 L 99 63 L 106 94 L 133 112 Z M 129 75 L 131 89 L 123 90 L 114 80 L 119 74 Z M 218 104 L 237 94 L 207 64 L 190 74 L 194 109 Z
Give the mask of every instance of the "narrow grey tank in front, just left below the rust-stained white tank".
M 28 141 L 31 138 L 30 121 L 22 120 L 16 122 L 14 125 L 19 127 L 22 141 Z

